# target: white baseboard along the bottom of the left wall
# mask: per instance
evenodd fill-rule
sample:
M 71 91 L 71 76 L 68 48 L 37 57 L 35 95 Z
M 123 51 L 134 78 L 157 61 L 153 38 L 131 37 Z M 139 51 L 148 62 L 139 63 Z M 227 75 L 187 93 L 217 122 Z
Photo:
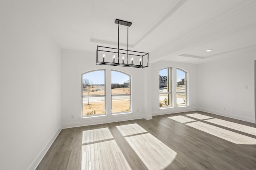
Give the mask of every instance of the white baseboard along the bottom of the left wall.
M 34 161 L 32 162 L 32 164 L 30 164 L 28 170 L 35 170 L 36 167 L 39 165 L 39 163 L 41 162 L 41 160 L 44 158 L 44 155 L 46 154 L 46 152 L 50 149 L 50 147 L 52 146 L 52 143 L 55 141 L 56 137 L 59 135 L 61 131 L 61 126 L 58 127 L 58 129 L 56 130 L 56 132 L 52 135 L 52 137 L 50 138 L 50 140 L 46 143 L 46 145 L 44 146 L 44 148 L 39 152 L 39 154 L 36 156 L 36 158 L 34 159 Z

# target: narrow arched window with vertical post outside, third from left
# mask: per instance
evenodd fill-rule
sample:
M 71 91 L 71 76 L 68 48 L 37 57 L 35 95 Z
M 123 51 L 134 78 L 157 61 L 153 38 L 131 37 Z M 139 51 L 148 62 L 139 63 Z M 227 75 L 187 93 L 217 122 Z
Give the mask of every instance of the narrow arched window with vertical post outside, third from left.
M 159 107 L 172 107 L 172 68 L 159 71 Z

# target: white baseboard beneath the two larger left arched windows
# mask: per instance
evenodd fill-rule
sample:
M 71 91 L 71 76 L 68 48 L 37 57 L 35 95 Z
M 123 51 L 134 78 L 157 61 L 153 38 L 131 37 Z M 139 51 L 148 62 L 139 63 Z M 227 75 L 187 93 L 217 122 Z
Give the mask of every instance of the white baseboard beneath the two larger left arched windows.
M 144 115 L 133 115 L 133 116 L 124 116 L 124 117 L 111 117 L 106 119 L 96 119 L 90 121 L 79 121 L 74 123 L 64 123 L 62 124 L 62 129 L 72 128 L 72 127 L 81 127 L 81 126 L 89 126 L 89 125 L 99 125 L 103 123 L 113 123 L 118 121 L 127 121 L 127 120 L 135 120 L 135 119 L 144 119 Z

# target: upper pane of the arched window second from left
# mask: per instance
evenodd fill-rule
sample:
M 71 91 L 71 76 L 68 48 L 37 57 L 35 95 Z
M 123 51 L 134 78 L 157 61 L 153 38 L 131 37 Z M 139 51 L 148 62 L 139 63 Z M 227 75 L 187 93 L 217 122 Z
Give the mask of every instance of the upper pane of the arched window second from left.
M 111 94 L 130 94 L 130 76 L 111 71 Z

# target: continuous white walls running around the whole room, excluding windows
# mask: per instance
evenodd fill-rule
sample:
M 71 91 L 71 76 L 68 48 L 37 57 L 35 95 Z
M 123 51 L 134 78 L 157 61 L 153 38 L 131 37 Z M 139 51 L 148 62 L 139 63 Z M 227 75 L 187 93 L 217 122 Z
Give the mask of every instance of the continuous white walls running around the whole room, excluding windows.
M 60 55 L 60 49 L 22 2 L 1 1 L 0 169 L 36 168 L 61 125 L 66 128 L 150 119 L 152 115 L 198 107 L 255 122 L 255 56 L 253 52 L 198 66 L 168 61 L 144 69 L 100 66 L 96 65 L 96 53 L 62 50 Z M 173 68 L 173 80 L 176 68 L 188 72 L 188 106 L 159 109 L 159 70 L 166 67 Z M 106 69 L 108 77 L 111 69 L 132 76 L 132 114 L 80 121 L 81 74 L 96 69 Z M 106 86 L 110 83 L 107 78 Z

